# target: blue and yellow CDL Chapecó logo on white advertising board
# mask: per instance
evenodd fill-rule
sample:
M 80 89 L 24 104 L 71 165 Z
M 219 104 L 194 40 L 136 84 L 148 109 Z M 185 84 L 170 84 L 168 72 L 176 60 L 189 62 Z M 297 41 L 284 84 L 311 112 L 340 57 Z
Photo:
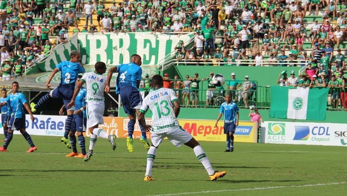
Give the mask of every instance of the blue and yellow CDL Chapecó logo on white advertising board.
M 295 126 L 295 135 L 293 140 L 301 141 L 316 141 L 328 142 L 330 141 L 329 127 L 309 127 L 309 126 Z

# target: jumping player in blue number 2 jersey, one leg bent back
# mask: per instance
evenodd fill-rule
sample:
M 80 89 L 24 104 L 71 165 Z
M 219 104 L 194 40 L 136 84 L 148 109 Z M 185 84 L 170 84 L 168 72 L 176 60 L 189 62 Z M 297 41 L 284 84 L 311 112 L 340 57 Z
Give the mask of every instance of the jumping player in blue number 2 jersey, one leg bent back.
M 63 99 L 65 109 L 67 111 L 67 118 L 65 121 L 65 133 L 64 136 L 61 138 L 61 142 L 65 144 L 67 148 L 71 148 L 70 142 L 67 139 L 69 131 L 71 130 L 71 123 L 73 119 L 73 112 L 74 107 L 67 107 L 66 105 L 70 103 L 73 90 L 75 87 L 75 82 L 78 76 L 78 73 L 84 73 L 84 68 L 80 64 L 80 54 L 77 50 L 73 50 L 70 53 L 70 61 L 62 61 L 61 63 L 57 64 L 51 74 L 48 77 L 46 86 L 48 88 L 51 87 L 51 80 L 53 79 L 54 75 L 57 72 L 61 72 L 61 80 L 58 87 L 51 90 L 49 93 L 41 97 L 39 102 L 35 105 L 34 103 L 30 104 L 31 111 L 33 113 L 36 112 L 36 110 L 42 106 L 44 103 L 46 103 L 48 100 L 50 100 L 51 97 L 53 98 L 60 98 Z

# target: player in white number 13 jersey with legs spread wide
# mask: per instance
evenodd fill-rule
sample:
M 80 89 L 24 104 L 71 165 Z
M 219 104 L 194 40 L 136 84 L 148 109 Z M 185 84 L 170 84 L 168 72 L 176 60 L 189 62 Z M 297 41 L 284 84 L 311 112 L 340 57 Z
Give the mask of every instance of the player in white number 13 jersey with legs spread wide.
M 142 102 L 138 121 L 146 131 L 152 133 L 152 144 L 147 153 L 147 167 L 145 181 L 153 180 L 152 165 L 159 144 L 167 137 L 170 142 L 179 147 L 182 144 L 191 147 L 199 161 L 204 165 L 211 181 L 223 177 L 226 172 L 215 171 L 207 158 L 204 150 L 192 135 L 182 129 L 177 117 L 180 113 L 180 103 L 175 91 L 163 88 L 163 79 L 160 75 L 152 77 L 154 90 L 149 92 Z M 152 111 L 152 126 L 146 125 L 144 115 L 146 111 Z

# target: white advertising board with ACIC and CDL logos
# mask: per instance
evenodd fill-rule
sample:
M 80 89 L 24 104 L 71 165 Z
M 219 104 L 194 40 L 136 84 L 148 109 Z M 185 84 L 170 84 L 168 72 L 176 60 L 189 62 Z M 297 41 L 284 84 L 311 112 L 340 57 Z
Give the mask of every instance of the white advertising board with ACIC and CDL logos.
M 347 125 L 334 123 L 265 122 L 264 143 L 347 146 Z

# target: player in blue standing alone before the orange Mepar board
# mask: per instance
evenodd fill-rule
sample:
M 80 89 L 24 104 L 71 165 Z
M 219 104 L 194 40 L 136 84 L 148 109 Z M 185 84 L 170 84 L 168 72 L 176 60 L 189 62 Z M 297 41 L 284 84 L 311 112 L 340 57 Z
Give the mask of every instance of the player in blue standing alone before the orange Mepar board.
M 218 126 L 218 121 L 224 114 L 224 134 L 226 134 L 226 150 L 225 152 L 234 151 L 234 133 L 235 128 L 238 126 L 238 111 L 237 105 L 231 102 L 231 95 L 227 94 L 225 96 L 225 102 L 220 106 L 219 114 L 216 122 L 216 127 Z

